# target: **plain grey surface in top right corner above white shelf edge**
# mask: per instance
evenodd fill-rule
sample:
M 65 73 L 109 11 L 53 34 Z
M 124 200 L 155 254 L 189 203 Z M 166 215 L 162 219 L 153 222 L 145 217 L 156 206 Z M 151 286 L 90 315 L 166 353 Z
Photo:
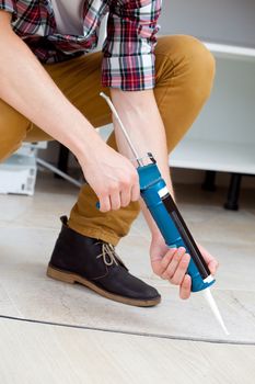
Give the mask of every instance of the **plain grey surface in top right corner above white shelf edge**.
M 163 0 L 161 34 L 255 47 L 254 0 Z

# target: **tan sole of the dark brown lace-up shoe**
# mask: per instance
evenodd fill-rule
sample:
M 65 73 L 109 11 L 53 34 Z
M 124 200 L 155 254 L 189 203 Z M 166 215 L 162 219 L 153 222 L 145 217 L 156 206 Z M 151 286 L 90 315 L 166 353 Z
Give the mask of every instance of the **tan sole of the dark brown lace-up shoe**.
M 98 287 L 96 284 L 92 283 L 91 281 L 80 276 L 79 274 L 72 273 L 72 272 L 66 272 L 60 269 L 53 268 L 48 266 L 47 269 L 47 276 L 62 281 L 65 283 L 74 284 L 80 283 L 90 290 L 98 293 L 101 296 L 104 296 L 106 298 L 113 300 L 118 303 L 139 306 L 139 307 L 151 307 L 161 302 L 161 296 L 152 300 L 136 300 L 136 298 L 128 298 L 125 296 L 116 295 L 114 293 L 111 293 L 108 291 L 105 291 L 101 287 Z

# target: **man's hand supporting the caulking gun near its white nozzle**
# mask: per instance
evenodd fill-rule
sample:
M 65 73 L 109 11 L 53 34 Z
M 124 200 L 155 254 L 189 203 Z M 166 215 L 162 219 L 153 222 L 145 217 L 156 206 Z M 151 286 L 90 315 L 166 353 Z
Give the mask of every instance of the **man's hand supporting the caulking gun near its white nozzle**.
M 198 248 L 213 275 L 218 269 L 218 261 L 200 245 Z M 179 285 L 179 297 L 185 300 L 190 296 L 192 279 L 187 272 L 190 256 L 186 249 L 166 247 L 162 236 L 152 238 L 150 247 L 151 267 L 161 279 L 169 280 L 174 285 Z

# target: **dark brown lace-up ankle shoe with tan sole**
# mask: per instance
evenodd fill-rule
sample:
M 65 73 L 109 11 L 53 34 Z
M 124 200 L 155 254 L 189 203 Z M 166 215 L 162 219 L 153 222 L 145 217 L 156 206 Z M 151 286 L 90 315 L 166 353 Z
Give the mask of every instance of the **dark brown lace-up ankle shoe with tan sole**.
M 80 283 L 100 295 L 135 306 L 161 302 L 159 292 L 128 272 L 107 242 L 80 235 L 61 217 L 62 228 L 47 269 L 49 278 Z

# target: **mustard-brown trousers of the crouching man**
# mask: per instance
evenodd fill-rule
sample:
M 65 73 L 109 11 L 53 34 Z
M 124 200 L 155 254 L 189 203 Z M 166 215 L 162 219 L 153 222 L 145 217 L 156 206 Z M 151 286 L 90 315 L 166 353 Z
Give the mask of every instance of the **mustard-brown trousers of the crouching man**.
M 111 123 L 111 111 L 100 97 L 102 54 L 95 53 L 60 64 L 45 65 L 56 84 L 95 126 Z M 197 117 L 210 94 L 215 60 L 208 49 L 190 36 L 160 37 L 155 48 L 155 100 L 164 122 L 171 151 Z M 108 90 L 104 90 L 106 93 Z M 45 111 L 47 113 L 47 111 Z M 150 129 L 150 127 L 147 127 Z M 0 160 L 25 142 L 53 139 L 27 118 L 0 100 Z M 114 135 L 108 144 L 116 149 Z M 80 234 L 116 245 L 127 235 L 139 213 L 138 203 L 101 213 L 89 185 L 81 188 L 69 226 Z

